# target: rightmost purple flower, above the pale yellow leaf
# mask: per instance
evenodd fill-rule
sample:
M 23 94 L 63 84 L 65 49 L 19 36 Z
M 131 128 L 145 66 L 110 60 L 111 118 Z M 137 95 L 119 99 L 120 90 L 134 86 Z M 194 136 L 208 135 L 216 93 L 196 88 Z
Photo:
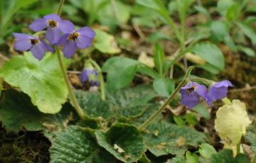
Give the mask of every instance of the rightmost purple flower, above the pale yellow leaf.
M 228 94 L 228 86 L 233 86 L 228 80 L 219 81 L 210 86 L 207 94 L 208 104 L 211 106 L 214 101 L 225 98 Z

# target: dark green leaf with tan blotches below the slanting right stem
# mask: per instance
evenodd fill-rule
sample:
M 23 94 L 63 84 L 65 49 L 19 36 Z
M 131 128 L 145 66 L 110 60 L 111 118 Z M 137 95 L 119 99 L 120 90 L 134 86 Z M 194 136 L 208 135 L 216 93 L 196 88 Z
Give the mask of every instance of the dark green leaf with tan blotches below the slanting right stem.
M 184 154 L 189 146 L 197 147 L 206 136 L 193 128 L 179 127 L 171 123 L 149 125 L 144 135 L 148 150 L 159 157 L 165 154 Z

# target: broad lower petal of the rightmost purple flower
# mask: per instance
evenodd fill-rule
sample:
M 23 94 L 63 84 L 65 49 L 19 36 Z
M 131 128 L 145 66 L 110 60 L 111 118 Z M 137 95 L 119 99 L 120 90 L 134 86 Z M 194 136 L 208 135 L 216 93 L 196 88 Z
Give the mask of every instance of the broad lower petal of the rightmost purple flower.
M 223 99 L 227 96 L 228 94 L 228 87 L 226 86 L 220 86 L 220 87 L 215 87 L 211 86 L 210 90 L 208 91 L 207 98 L 208 101 L 217 101 L 220 99 Z

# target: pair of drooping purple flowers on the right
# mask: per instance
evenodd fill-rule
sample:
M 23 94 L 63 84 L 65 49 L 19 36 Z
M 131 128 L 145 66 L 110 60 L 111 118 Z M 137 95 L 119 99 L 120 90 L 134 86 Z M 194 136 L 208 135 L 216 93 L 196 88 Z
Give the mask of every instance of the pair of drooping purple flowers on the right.
M 233 86 L 233 84 L 228 80 L 223 80 L 210 86 L 208 91 L 206 86 L 191 82 L 181 87 L 181 103 L 188 108 L 193 108 L 199 103 L 201 97 L 209 106 L 212 106 L 214 101 L 227 96 L 228 86 Z

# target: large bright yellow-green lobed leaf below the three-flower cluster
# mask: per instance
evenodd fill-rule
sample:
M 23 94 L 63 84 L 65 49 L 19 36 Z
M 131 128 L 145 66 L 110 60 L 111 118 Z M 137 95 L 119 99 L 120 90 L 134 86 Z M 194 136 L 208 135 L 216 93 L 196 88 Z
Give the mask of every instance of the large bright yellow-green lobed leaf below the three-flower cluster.
M 56 55 L 46 54 L 36 60 L 30 52 L 12 57 L 0 69 L 0 76 L 11 86 L 17 86 L 31 97 L 43 113 L 58 113 L 68 97 Z

